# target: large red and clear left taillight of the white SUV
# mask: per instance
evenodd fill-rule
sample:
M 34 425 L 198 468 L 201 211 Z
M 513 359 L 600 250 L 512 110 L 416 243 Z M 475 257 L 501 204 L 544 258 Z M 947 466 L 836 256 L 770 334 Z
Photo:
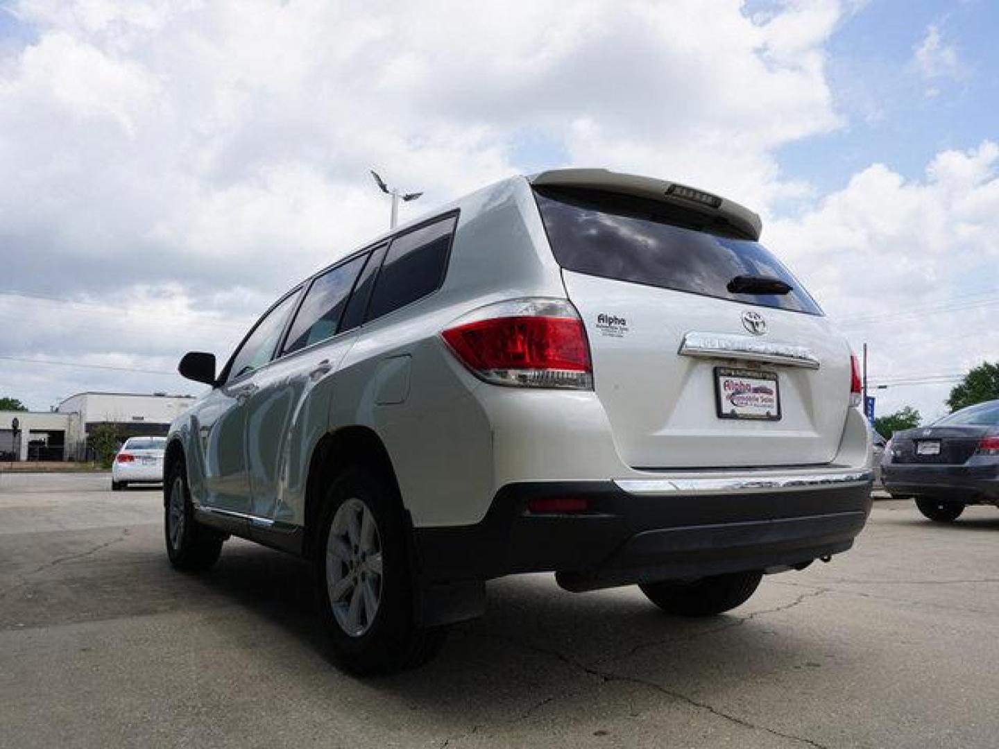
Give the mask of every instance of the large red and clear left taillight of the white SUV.
M 488 305 L 441 334 L 480 379 L 519 387 L 593 386 L 586 332 L 565 300 L 524 299 Z

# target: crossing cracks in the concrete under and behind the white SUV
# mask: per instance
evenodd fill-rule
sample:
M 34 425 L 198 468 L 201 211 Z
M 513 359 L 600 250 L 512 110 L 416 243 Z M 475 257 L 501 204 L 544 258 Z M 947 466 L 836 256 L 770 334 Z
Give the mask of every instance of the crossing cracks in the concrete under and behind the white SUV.
M 716 632 L 724 631 L 725 629 L 733 629 L 733 628 L 735 628 L 737 626 L 742 626 L 747 621 L 749 621 L 751 619 L 754 619 L 756 617 L 764 616 L 766 614 L 778 613 L 780 611 L 786 611 L 786 610 L 788 610 L 790 608 L 793 608 L 793 607 L 795 607 L 797 605 L 800 605 L 803 601 L 807 600 L 808 598 L 815 598 L 815 597 L 817 597 L 819 595 L 824 595 L 825 593 L 828 593 L 828 592 L 832 592 L 832 591 L 830 591 L 828 588 L 819 588 L 819 589 L 813 590 L 812 592 L 809 592 L 809 593 L 802 593 L 801 595 L 797 596 L 790 603 L 785 603 L 783 605 L 776 606 L 774 608 L 762 609 L 760 611 L 753 611 L 752 613 L 747 614 L 746 616 L 740 618 L 738 622 L 735 622 L 735 623 L 730 624 L 730 625 L 725 626 L 725 627 L 718 627 L 718 628 L 709 630 L 707 632 L 702 632 L 702 633 L 699 634 L 699 636 L 705 636 L 705 635 L 708 635 L 708 634 L 713 634 L 713 633 L 716 633 Z M 546 655 L 548 657 L 551 657 L 551 658 L 554 658 L 554 659 L 556 659 L 558 661 L 561 661 L 562 663 L 570 666 L 573 669 L 576 669 L 576 670 L 581 671 L 581 672 L 583 672 L 583 673 L 585 673 L 585 674 L 587 674 L 589 676 L 593 676 L 593 677 L 599 679 L 600 683 L 624 682 L 624 683 L 628 683 L 628 684 L 634 684 L 634 685 L 637 685 L 637 686 L 644 686 L 646 688 L 653 689 L 653 690 L 655 690 L 655 691 L 657 691 L 657 692 L 659 692 L 661 694 L 664 694 L 664 695 L 666 695 L 668 697 L 672 697 L 673 699 L 678 700 L 679 702 L 687 704 L 687 705 L 689 705 L 691 707 L 695 707 L 695 708 L 697 708 L 699 710 L 704 710 L 705 712 L 707 712 L 707 713 L 709 713 L 711 715 L 714 715 L 715 717 L 721 718 L 723 720 L 726 720 L 726 721 L 728 721 L 730 723 L 733 723 L 735 725 L 741 726 L 743 728 L 748 728 L 748 729 L 751 729 L 751 730 L 754 730 L 754 731 L 763 731 L 765 733 L 769 733 L 770 735 L 776 736 L 778 738 L 787 739 L 789 741 L 796 741 L 796 742 L 798 742 L 800 744 L 804 744 L 806 746 L 815 747 L 815 749 L 828 749 L 828 747 L 826 747 L 824 744 L 820 744 L 819 742 L 814 741 L 813 739 L 809 739 L 809 738 L 807 738 L 805 736 L 798 736 L 798 735 L 792 734 L 792 733 L 785 733 L 783 731 L 779 731 L 779 730 L 777 730 L 775 728 L 770 728 L 768 726 L 764 726 L 764 725 L 759 724 L 759 723 L 753 723 L 752 721 L 750 721 L 750 720 L 748 720 L 746 718 L 742 718 L 742 717 L 739 717 L 738 715 L 733 715 L 732 713 L 725 712 L 725 711 L 721 710 L 720 708 L 717 708 L 714 705 L 711 705 L 708 702 L 704 702 L 702 700 L 698 700 L 698 699 L 696 699 L 694 697 L 691 697 L 691 696 L 689 696 L 687 694 L 683 694 L 682 692 L 679 692 L 679 691 L 676 691 L 674 689 L 669 689 L 667 687 L 664 687 L 661 684 L 659 684 L 659 683 L 657 683 L 655 681 L 652 681 L 649 678 L 641 678 L 641 677 L 638 677 L 638 676 L 628 676 L 626 674 L 615 673 L 614 671 L 611 671 L 611 670 L 607 670 L 607 669 L 603 669 L 603 668 L 598 668 L 597 664 L 603 662 L 604 660 L 606 660 L 605 658 L 593 661 L 590 664 L 586 664 L 586 663 L 583 663 L 582 661 L 578 661 L 578 660 L 576 660 L 574 658 L 571 658 L 571 657 L 565 655 L 564 653 L 562 653 L 562 652 L 560 652 L 558 650 L 555 650 L 553 648 L 545 648 L 545 647 L 541 647 L 539 645 L 533 645 L 533 644 L 526 643 L 526 642 L 519 642 L 519 641 L 511 639 L 509 637 L 503 637 L 503 636 L 497 635 L 497 634 L 485 634 L 485 633 L 481 633 L 481 632 L 470 632 L 469 630 L 466 630 L 466 629 L 458 629 L 457 631 L 459 631 L 459 632 L 461 632 L 463 634 L 466 634 L 466 635 L 468 635 L 470 637 L 479 637 L 479 638 L 483 638 L 483 639 L 498 640 L 498 641 L 503 642 L 503 643 L 505 643 L 507 645 L 512 645 L 513 647 L 518 647 L 518 648 L 521 648 L 521 649 L 524 649 L 524 650 L 530 650 L 530 651 L 533 651 L 533 652 L 541 653 L 543 655 Z M 688 638 L 688 639 L 695 639 L 695 638 Z M 668 642 L 675 642 L 675 641 L 682 641 L 682 638 L 671 638 L 670 640 L 666 640 L 662 644 L 668 644 Z M 628 657 L 628 655 L 632 654 L 634 651 L 640 650 L 642 648 L 652 647 L 655 644 L 656 643 L 644 643 L 644 644 L 642 644 L 642 645 L 634 648 L 631 653 L 628 653 L 625 656 L 619 656 L 619 657 Z M 529 714 L 529 712 L 531 712 L 531 711 L 536 710 L 537 708 L 539 708 L 541 705 L 546 704 L 547 702 L 550 702 L 551 699 L 553 699 L 553 698 L 548 698 L 546 700 L 542 700 L 540 703 L 538 703 L 533 708 L 531 708 L 530 710 L 528 710 L 528 714 Z M 476 728 L 478 729 L 478 726 Z M 443 747 L 447 746 L 448 743 L 450 743 L 450 739 L 446 739 L 445 743 L 441 745 L 442 749 L 443 749 Z

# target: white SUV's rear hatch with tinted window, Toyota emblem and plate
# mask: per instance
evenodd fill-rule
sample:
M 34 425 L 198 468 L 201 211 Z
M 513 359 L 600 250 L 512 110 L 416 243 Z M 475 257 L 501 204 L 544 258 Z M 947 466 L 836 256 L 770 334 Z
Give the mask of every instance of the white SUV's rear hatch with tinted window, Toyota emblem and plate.
M 850 352 L 769 252 L 717 222 L 705 231 L 675 201 L 536 182 L 535 198 L 586 328 L 594 389 L 629 465 L 833 459 L 849 407 Z M 736 277 L 791 290 L 731 292 Z

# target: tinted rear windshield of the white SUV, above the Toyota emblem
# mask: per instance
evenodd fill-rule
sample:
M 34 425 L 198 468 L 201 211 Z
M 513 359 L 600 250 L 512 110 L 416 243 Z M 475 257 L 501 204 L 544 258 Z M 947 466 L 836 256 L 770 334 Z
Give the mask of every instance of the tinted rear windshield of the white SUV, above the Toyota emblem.
M 549 188 L 535 194 L 555 260 L 568 271 L 822 314 L 801 284 L 758 242 L 682 226 L 675 209 L 655 201 Z M 768 276 L 783 281 L 791 291 L 783 295 L 729 292 L 726 287 L 736 276 Z

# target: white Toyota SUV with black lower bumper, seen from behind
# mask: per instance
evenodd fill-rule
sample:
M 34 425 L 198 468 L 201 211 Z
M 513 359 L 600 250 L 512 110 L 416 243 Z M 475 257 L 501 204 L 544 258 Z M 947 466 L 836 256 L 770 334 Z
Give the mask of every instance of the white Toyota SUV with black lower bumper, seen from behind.
M 483 189 L 296 286 L 171 426 L 170 559 L 315 566 L 342 662 L 422 662 L 485 581 L 637 583 L 669 613 L 848 549 L 870 438 L 847 344 L 758 217 L 604 170 Z

